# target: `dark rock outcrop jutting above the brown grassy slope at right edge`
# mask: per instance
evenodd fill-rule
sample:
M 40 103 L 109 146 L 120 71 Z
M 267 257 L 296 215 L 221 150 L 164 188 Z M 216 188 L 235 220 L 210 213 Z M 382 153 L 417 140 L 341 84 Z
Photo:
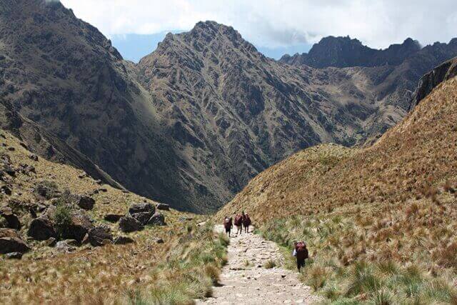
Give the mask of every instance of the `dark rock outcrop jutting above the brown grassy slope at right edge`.
M 457 75 L 457 58 L 453 58 L 449 61 L 436 66 L 433 70 L 425 74 L 419 80 L 419 84 L 414 91 L 413 97 L 411 99 L 411 109 L 413 109 L 421 99 L 428 96 L 431 91 L 441 84 L 443 81 L 452 79 Z

